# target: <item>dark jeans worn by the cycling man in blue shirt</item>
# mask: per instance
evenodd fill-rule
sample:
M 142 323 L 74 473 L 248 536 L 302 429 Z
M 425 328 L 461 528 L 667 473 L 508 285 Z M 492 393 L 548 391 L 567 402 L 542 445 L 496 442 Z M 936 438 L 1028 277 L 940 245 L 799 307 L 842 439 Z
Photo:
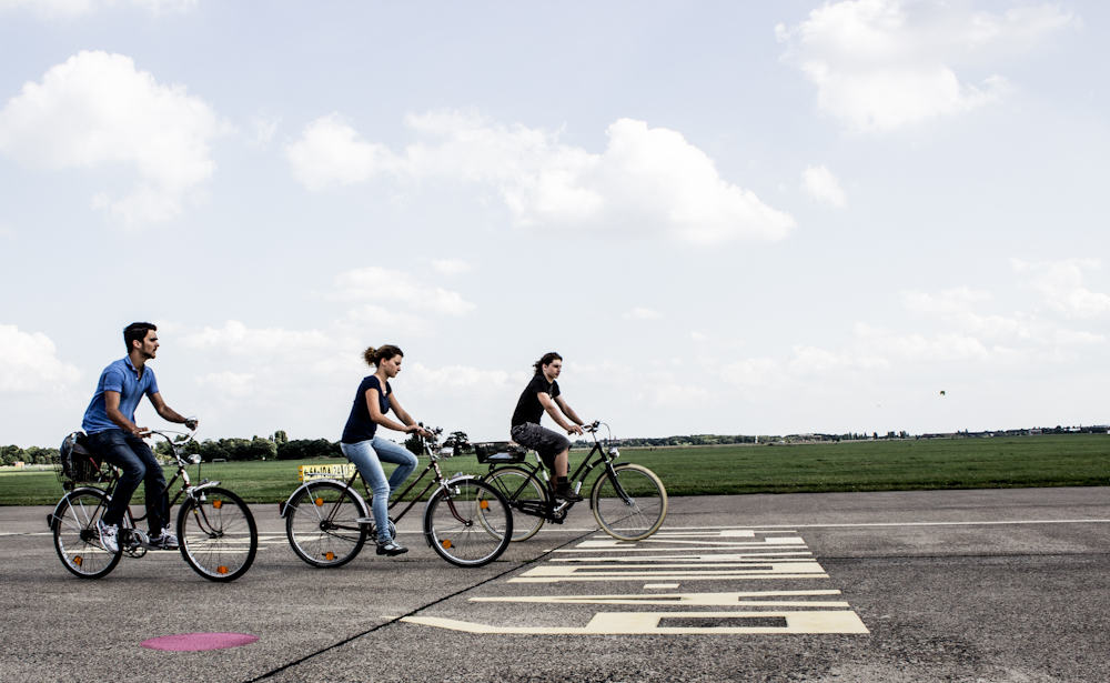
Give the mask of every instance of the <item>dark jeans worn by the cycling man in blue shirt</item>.
M 158 463 L 142 439 L 132 436 L 123 430 L 107 430 L 89 434 L 89 445 L 92 452 L 123 470 L 120 483 L 115 486 L 112 501 L 104 513 L 104 524 L 119 524 L 123 513 L 131 502 L 131 495 L 139 488 L 139 482 L 147 483 L 147 523 L 150 533 L 158 535 L 170 522 L 170 496 L 165 492 L 165 478 L 162 465 Z

